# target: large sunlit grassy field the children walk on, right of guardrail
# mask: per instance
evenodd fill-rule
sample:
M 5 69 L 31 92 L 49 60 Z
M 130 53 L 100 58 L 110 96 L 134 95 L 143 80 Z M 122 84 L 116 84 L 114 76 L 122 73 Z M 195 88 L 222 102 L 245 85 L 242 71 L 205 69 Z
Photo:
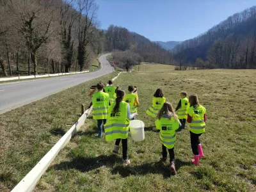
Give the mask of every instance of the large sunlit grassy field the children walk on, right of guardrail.
M 163 66 L 164 70 L 159 66 L 142 65 L 140 69 L 148 70 L 122 74 L 115 82 L 124 90 L 130 84 L 138 86 L 138 113 L 145 122 L 145 140 L 128 141 L 131 166 L 122 165 L 121 154 L 111 154 L 114 143 L 95 138 L 97 127 L 89 118 L 35 191 L 256 190 L 256 70 L 174 71 L 170 66 Z M 170 177 L 168 163 L 159 163 L 159 133 L 154 119 L 145 113 L 159 87 L 174 107 L 179 93 L 186 90 L 198 94 L 207 108 L 207 128 L 201 136 L 205 159 L 200 166 L 193 166 L 188 127 L 177 132 L 175 177 Z

